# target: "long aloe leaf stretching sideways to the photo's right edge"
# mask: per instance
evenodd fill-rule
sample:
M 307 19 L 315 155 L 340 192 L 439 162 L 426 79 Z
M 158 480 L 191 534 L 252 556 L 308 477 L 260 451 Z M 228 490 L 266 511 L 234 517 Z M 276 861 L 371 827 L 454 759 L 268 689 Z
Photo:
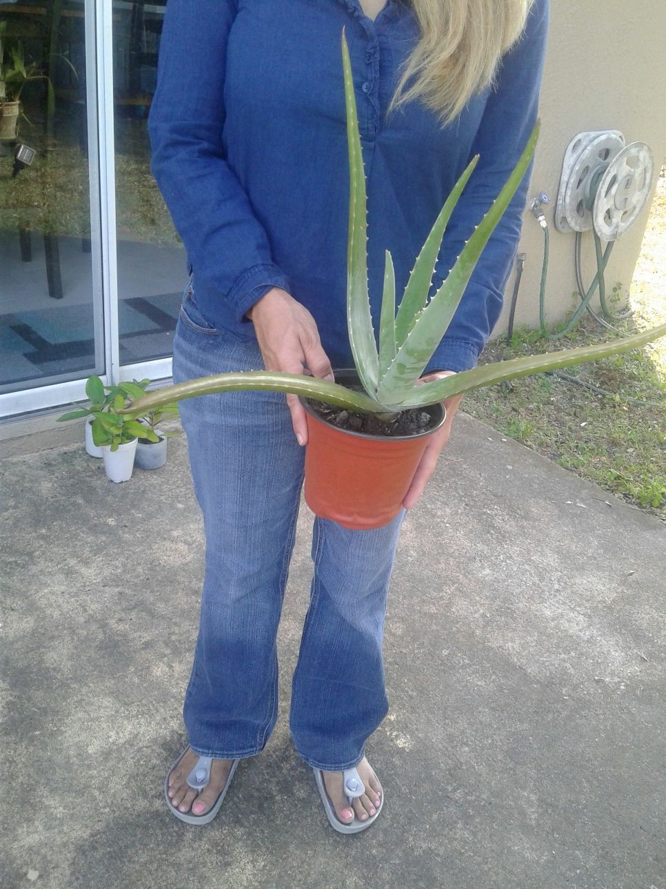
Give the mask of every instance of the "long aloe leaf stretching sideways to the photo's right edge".
M 417 407 L 423 404 L 434 404 L 461 395 L 470 389 L 492 386 L 504 380 L 515 380 L 518 377 L 527 377 L 535 373 L 558 371 L 562 367 L 572 364 L 583 364 L 587 361 L 598 361 L 609 355 L 619 355 L 628 352 L 632 348 L 645 346 L 648 342 L 659 340 L 666 336 L 666 324 L 653 327 L 633 336 L 622 337 L 621 340 L 602 342 L 596 346 L 581 346 L 569 348 L 561 352 L 547 352 L 545 355 L 533 355 L 525 358 L 511 358 L 509 361 L 496 361 L 493 364 L 484 364 L 475 367 L 472 371 L 464 371 L 447 377 L 445 380 L 432 380 L 416 386 L 406 402 L 400 404 L 401 408 Z

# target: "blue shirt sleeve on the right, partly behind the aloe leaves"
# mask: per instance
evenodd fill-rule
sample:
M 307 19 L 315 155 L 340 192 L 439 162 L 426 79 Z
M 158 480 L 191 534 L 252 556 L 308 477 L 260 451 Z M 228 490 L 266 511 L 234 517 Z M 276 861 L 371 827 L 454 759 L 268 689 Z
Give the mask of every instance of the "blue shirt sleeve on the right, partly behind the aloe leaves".
M 549 0 L 536 0 L 523 36 L 503 58 L 472 146 L 472 156 L 480 155 L 479 164 L 444 236 L 436 285 L 446 277 L 465 239 L 501 191 L 535 126 L 548 20 Z M 503 290 L 518 248 L 531 171 L 532 165 L 488 240 L 428 369 L 459 372 L 477 363 L 502 311 Z

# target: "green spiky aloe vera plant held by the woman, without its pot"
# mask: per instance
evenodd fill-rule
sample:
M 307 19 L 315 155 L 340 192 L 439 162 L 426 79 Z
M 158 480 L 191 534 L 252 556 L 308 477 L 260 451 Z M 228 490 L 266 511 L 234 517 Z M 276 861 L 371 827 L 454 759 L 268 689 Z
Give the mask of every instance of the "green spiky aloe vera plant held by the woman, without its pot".
M 447 223 L 472 175 L 478 156 L 467 166 L 435 220 L 431 233 L 416 258 L 397 312 L 392 258 L 391 253 L 386 251 L 377 348 L 368 293 L 366 180 L 353 92 L 352 68 L 344 33 L 342 55 L 350 168 L 347 327 L 354 364 L 364 391 L 352 391 L 337 383 L 283 372 L 220 373 L 161 388 L 135 400 L 129 410 L 145 412 L 184 398 L 247 388 L 287 392 L 356 412 L 374 412 L 394 417 L 396 412 L 410 407 L 434 404 L 473 388 L 490 386 L 529 374 L 559 370 L 571 364 L 594 361 L 631 348 L 638 348 L 666 335 L 666 324 L 662 324 L 660 327 L 622 340 L 486 364 L 443 380 L 432 380 L 419 385 L 419 377 L 456 312 L 472 271 L 488 243 L 488 238 L 495 230 L 527 172 L 535 152 L 539 125 L 537 124 L 532 132 L 518 164 L 494 204 L 464 244 L 456 264 L 431 299 L 428 298 L 428 294 Z

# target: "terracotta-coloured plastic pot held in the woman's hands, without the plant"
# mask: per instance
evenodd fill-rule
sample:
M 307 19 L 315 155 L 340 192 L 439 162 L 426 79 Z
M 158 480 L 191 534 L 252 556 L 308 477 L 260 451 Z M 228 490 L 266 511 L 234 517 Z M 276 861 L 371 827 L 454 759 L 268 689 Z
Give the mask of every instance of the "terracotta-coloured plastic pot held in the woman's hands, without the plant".
M 355 371 L 336 371 L 336 382 L 358 381 Z M 313 513 L 345 528 L 369 530 L 388 525 L 400 512 L 428 437 L 445 419 L 443 404 L 424 412 L 432 428 L 416 436 L 369 436 L 331 426 L 305 401 L 305 502 Z

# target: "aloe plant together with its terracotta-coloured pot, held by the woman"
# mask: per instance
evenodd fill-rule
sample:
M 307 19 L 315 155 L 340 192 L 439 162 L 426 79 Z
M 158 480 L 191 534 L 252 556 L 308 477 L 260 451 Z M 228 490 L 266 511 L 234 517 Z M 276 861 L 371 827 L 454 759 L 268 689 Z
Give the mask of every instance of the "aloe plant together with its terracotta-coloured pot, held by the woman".
M 419 253 L 396 312 L 395 281 L 386 252 L 385 286 L 378 348 L 368 296 L 366 184 L 352 69 L 343 34 L 343 65 L 350 164 L 347 250 L 347 326 L 355 370 L 335 372 L 332 383 L 298 374 L 250 371 L 220 373 L 165 387 L 136 400 L 128 412 L 154 411 L 165 404 L 239 389 L 292 393 L 304 400 L 308 423 L 305 501 L 313 512 L 349 528 L 377 528 L 395 517 L 432 435 L 444 421 L 445 399 L 473 388 L 638 348 L 666 335 L 666 324 L 622 340 L 540 356 L 486 364 L 446 379 L 420 382 L 454 316 L 480 254 L 502 218 L 534 155 L 538 124 L 511 176 L 438 292 L 428 298 L 448 219 L 478 158 L 464 171 Z M 326 404 L 321 409 L 316 405 Z M 342 409 L 331 410 L 334 409 Z M 411 416 L 410 416 L 411 413 Z M 342 416 L 346 414 L 346 416 Z M 371 432 L 363 431 L 370 418 Z M 403 420 L 414 428 L 398 431 Z M 409 426 L 409 423 L 407 424 Z M 346 427 L 346 428 L 342 428 Z M 385 433 L 385 434 L 378 434 Z

